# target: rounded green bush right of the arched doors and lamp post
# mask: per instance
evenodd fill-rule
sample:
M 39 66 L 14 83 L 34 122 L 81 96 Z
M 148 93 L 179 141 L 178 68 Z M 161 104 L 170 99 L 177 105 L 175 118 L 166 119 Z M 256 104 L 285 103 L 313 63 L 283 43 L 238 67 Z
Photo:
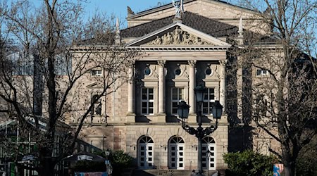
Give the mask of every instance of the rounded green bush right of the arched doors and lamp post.
M 264 156 L 251 150 L 226 153 L 223 158 L 228 164 L 226 175 L 237 176 L 271 176 L 273 175 L 273 163 L 278 162 L 273 156 Z

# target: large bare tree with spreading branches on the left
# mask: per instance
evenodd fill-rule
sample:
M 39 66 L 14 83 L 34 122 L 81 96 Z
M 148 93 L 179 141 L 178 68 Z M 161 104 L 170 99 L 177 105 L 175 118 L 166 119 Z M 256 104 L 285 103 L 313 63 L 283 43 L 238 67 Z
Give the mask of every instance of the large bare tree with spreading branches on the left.
M 130 81 L 128 66 L 138 56 L 116 44 L 113 18 L 96 14 L 83 20 L 82 3 L 43 0 L 35 8 L 17 1 L 0 7 L 0 98 L 13 107 L 6 113 L 18 120 L 20 135 L 32 135 L 39 145 L 39 175 L 54 175 L 56 163 L 73 151 L 95 103 Z M 89 77 L 97 68 L 102 76 Z M 89 92 L 77 92 L 83 80 L 98 84 L 92 102 Z M 75 129 L 62 123 L 70 117 L 77 120 Z

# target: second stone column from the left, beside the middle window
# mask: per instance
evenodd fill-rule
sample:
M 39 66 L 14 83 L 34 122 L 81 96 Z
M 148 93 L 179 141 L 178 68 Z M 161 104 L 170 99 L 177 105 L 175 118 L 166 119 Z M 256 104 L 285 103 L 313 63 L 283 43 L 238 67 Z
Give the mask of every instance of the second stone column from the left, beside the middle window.
M 165 67 L 166 61 L 158 61 L 159 64 L 159 115 L 165 114 Z M 165 118 L 164 118 L 165 120 Z

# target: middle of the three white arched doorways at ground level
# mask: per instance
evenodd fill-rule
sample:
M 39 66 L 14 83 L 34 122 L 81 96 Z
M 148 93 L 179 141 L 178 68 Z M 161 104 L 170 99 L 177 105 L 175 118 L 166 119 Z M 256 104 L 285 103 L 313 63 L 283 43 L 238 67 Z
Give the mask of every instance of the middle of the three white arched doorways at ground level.
M 185 142 L 182 137 L 171 137 L 168 141 L 168 167 L 170 169 L 185 168 Z

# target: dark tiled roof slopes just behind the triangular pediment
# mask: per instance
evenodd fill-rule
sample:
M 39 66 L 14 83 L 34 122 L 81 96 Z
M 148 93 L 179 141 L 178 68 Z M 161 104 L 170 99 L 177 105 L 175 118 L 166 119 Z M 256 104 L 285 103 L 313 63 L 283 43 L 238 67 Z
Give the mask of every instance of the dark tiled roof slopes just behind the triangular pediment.
M 129 27 L 125 30 L 121 30 L 120 36 L 123 38 L 142 37 L 145 34 L 149 34 L 172 24 L 174 17 L 175 15 L 171 15 L 166 18 L 151 21 L 149 23 Z M 213 37 L 232 36 L 237 34 L 237 31 L 239 30 L 238 27 L 234 25 L 228 25 L 216 20 L 211 20 L 204 16 L 197 15 L 188 11 L 185 12 L 183 15 L 182 24 L 192 27 L 195 30 L 199 30 L 200 32 L 204 32 L 205 34 L 209 34 Z

